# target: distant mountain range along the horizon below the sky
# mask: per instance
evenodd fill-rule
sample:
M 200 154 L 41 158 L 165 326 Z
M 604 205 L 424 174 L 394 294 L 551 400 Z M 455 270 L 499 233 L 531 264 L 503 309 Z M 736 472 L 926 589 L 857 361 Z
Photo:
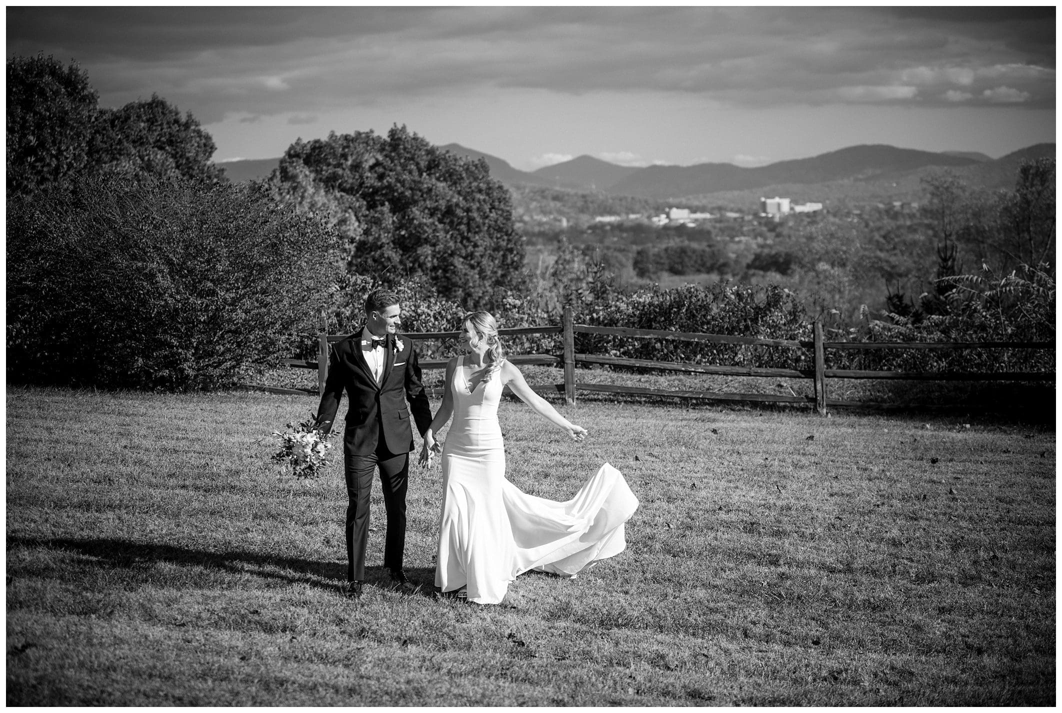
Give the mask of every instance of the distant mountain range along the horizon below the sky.
M 854 146 L 838 151 L 744 168 L 733 164 L 693 166 L 619 166 L 593 156 L 577 156 L 536 171 L 521 171 L 497 156 L 459 143 L 440 147 L 473 159 L 482 158 L 491 175 L 508 185 L 544 186 L 612 196 L 650 199 L 707 199 L 717 194 L 763 190 L 815 194 L 828 187 L 829 194 L 871 197 L 875 200 L 910 192 L 929 170 L 950 169 L 972 185 L 984 188 L 1013 187 L 1022 159 L 1055 157 L 1054 143 L 1038 143 L 1000 158 L 963 151 L 918 151 L 886 145 Z M 233 181 L 269 175 L 279 158 L 236 160 L 221 164 Z M 822 191 L 820 191 L 822 192 Z M 750 193 L 751 194 L 751 193 Z

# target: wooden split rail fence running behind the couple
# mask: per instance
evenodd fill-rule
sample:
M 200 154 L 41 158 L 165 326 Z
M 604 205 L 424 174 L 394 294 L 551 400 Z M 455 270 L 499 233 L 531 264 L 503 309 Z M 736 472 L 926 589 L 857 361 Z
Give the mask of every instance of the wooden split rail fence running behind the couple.
M 788 339 L 760 339 L 758 337 L 736 337 L 731 335 L 709 335 L 687 332 L 669 332 L 664 329 L 634 329 L 628 327 L 601 327 L 588 324 L 575 324 L 570 308 L 564 310 L 563 323 L 560 326 L 547 325 L 537 327 L 514 327 L 499 329 L 500 336 L 561 334 L 563 355 L 521 354 L 507 357 L 517 366 L 550 366 L 564 370 L 564 380 L 561 384 L 531 385 L 538 392 L 563 393 L 568 404 L 576 403 L 577 391 L 603 392 L 629 395 L 673 396 L 679 398 L 695 398 L 707 401 L 739 401 L 739 402 L 772 402 L 786 404 L 807 404 L 815 410 L 825 414 L 830 406 L 859 406 L 889 408 L 893 404 L 873 404 L 866 402 L 840 401 L 829 398 L 826 390 L 827 378 L 845 379 L 911 379 L 911 380 L 980 380 L 980 381 L 1054 381 L 1055 372 L 895 372 L 895 371 L 861 371 L 851 369 L 827 369 L 826 350 L 963 350 L 963 349 L 1055 349 L 1054 342 L 832 342 L 823 339 L 822 323 L 812 323 L 812 339 L 798 341 Z M 758 367 L 735 367 L 727 364 L 681 363 L 674 361 L 654 361 L 650 359 L 628 359 L 623 357 L 601 356 L 595 354 L 577 354 L 575 350 L 576 334 L 609 335 L 630 337 L 635 339 L 676 339 L 683 341 L 700 341 L 717 344 L 748 344 L 761 346 L 781 346 L 794 350 L 810 350 L 812 368 L 772 369 Z M 405 336 L 414 340 L 450 339 L 460 336 L 460 332 L 422 332 L 406 333 Z M 319 338 L 318 360 L 287 359 L 290 367 L 316 369 L 320 391 L 324 390 L 328 376 L 328 351 L 333 342 L 345 339 L 345 335 L 325 335 Z M 423 359 L 422 370 L 445 369 L 447 359 Z M 813 396 L 786 396 L 782 394 L 759 393 L 723 393 L 715 391 L 681 391 L 665 389 L 646 389 L 611 384 L 583 384 L 576 381 L 576 363 L 601 364 L 609 367 L 633 367 L 661 371 L 684 372 L 690 374 L 718 374 L 724 376 L 760 376 L 784 378 L 809 378 L 815 383 Z M 274 389 L 271 389 L 274 390 Z M 280 390 L 302 393 L 298 390 Z M 319 393 L 320 393 L 319 391 Z M 431 395 L 442 395 L 442 388 L 428 389 Z

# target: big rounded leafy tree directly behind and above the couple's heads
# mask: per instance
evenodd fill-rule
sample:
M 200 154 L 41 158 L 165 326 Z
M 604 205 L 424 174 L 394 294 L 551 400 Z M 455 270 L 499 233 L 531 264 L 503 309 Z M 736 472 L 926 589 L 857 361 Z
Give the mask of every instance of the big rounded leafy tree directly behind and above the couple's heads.
M 271 176 L 303 210 L 348 238 L 348 269 L 395 284 L 426 278 L 467 308 L 525 285 L 524 244 L 508 189 L 474 162 L 405 126 L 296 141 Z

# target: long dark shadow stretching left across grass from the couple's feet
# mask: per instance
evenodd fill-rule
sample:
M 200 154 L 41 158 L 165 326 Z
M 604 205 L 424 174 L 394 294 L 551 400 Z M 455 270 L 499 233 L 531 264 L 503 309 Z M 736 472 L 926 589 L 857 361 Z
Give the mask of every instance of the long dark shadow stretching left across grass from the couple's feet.
M 277 557 L 247 550 L 208 551 L 175 545 L 131 542 L 127 540 L 73 540 L 35 539 L 13 537 L 7 539 L 7 550 L 15 548 L 46 548 L 73 551 L 92 558 L 95 562 L 80 562 L 80 566 L 98 566 L 127 570 L 133 578 L 147 562 L 184 566 L 200 566 L 228 574 L 249 574 L 291 583 L 306 583 L 328 592 L 339 593 L 346 581 L 346 564 L 322 562 L 294 557 Z M 32 567 L 31 567 L 32 568 Z M 12 574 L 13 567 L 8 570 Z M 407 568 L 406 574 L 417 594 L 433 596 L 435 571 L 429 567 Z M 365 584 L 384 590 L 396 589 L 390 574 L 382 567 L 365 568 Z

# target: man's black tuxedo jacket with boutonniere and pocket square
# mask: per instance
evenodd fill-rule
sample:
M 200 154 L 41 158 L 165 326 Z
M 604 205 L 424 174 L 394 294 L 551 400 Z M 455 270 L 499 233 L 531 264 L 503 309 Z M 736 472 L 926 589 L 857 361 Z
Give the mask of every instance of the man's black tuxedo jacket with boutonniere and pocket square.
M 410 411 L 422 436 L 431 425 L 431 407 L 421 384 L 421 367 L 413 351 L 413 340 L 401 335 L 388 335 L 383 383 L 377 386 L 361 352 L 362 329 L 336 342 L 328 351 L 328 378 L 321 394 L 321 406 L 318 407 L 318 426 L 325 432 L 331 430 L 339 402 L 346 389 L 349 408 L 343 432 L 343 452 L 367 456 L 376 451 L 382 434 L 388 451 L 396 455 L 409 453 L 413 449 Z M 397 349 L 396 343 L 401 343 L 402 347 Z M 409 408 L 405 402 L 409 402 Z M 325 424 L 325 421 L 328 423 Z

